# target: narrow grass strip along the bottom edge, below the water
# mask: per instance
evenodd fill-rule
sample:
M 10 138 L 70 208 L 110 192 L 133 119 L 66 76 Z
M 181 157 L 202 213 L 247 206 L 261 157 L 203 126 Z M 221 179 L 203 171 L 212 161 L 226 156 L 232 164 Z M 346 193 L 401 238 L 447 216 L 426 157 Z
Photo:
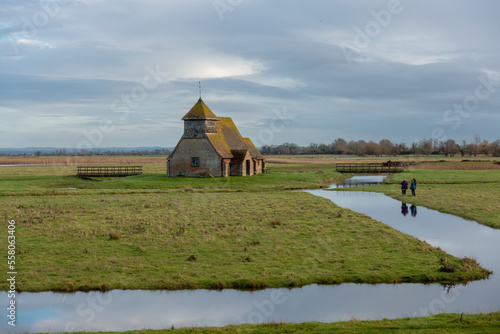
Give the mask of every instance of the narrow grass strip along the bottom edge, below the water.
M 425 318 L 359 321 L 335 323 L 306 322 L 300 324 L 271 323 L 262 325 L 237 325 L 226 327 L 180 328 L 171 330 L 130 331 L 130 334 L 183 334 L 183 333 L 367 333 L 367 334 L 481 334 L 498 333 L 500 312 L 489 314 L 438 314 Z M 102 333 L 111 334 L 111 332 Z

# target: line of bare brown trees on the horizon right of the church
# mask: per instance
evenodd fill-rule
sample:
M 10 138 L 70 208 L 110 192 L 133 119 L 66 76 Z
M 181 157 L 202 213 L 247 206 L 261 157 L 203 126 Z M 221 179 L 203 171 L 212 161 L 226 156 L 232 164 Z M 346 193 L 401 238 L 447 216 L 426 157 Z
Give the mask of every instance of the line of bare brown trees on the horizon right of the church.
M 461 144 L 453 139 L 438 141 L 437 139 L 422 139 L 414 142 L 410 146 L 405 143 L 392 143 L 389 139 L 382 139 L 378 143 L 364 140 L 346 141 L 337 138 L 330 144 L 311 143 L 309 146 L 299 146 L 294 143 L 284 143 L 281 145 L 264 145 L 260 152 L 262 154 L 351 154 L 351 155 L 407 155 L 407 154 L 443 154 L 445 156 L 477 156 L 478 154 L 500 156 L 500 139 L 494 142 L 481 140 L 475 136 L 471 142 L 462 141 Z

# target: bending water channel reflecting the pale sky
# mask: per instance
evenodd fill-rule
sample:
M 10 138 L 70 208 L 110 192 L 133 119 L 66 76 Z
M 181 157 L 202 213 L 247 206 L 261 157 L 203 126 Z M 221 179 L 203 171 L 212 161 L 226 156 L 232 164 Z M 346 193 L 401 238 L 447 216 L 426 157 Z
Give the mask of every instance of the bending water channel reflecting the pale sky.
M 339 187 L 376 184 L 382 177 L 355 177 Z M 334 186 L 335 187 L 335 186 Z M 341 284 L 260 291 L 114 290 L 60 294 L 19 293 L 16 327 L 2 333 L 124 331 L 269 321 L 334 322 L 427 316 L 441 312 L 500 310 L 500 230 L 424 207 L 412 208 L 383 194 L 360 191 L 308 191 L 341 207 L 364 213 L 457 257 L 474 257 L 494 272 L 466 285 Z M 417 193 L 418 195 L 418 193 Z M 6 314 L 7 293 L 0 293 Z

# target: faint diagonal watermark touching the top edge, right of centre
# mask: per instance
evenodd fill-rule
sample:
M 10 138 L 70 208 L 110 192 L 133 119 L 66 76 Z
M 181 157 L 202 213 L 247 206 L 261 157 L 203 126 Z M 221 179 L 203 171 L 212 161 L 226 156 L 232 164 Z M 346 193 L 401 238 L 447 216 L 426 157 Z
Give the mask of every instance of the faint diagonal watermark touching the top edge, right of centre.
M 391 24 L 393 17 L 401 14 L 403 9 L 404 6 L 400 0 L 389 0 L 385 9 L 371 10 L 370 15 L 373 20 L 366 22 L 362 28 L 355 26 L 354 36 L 350 43 L 340 43 L 340 50 L 347 62 L 367 60 L 368 57 L 363 50 L 370 46 L 372 40 L 378 37 L 383 29 Z

